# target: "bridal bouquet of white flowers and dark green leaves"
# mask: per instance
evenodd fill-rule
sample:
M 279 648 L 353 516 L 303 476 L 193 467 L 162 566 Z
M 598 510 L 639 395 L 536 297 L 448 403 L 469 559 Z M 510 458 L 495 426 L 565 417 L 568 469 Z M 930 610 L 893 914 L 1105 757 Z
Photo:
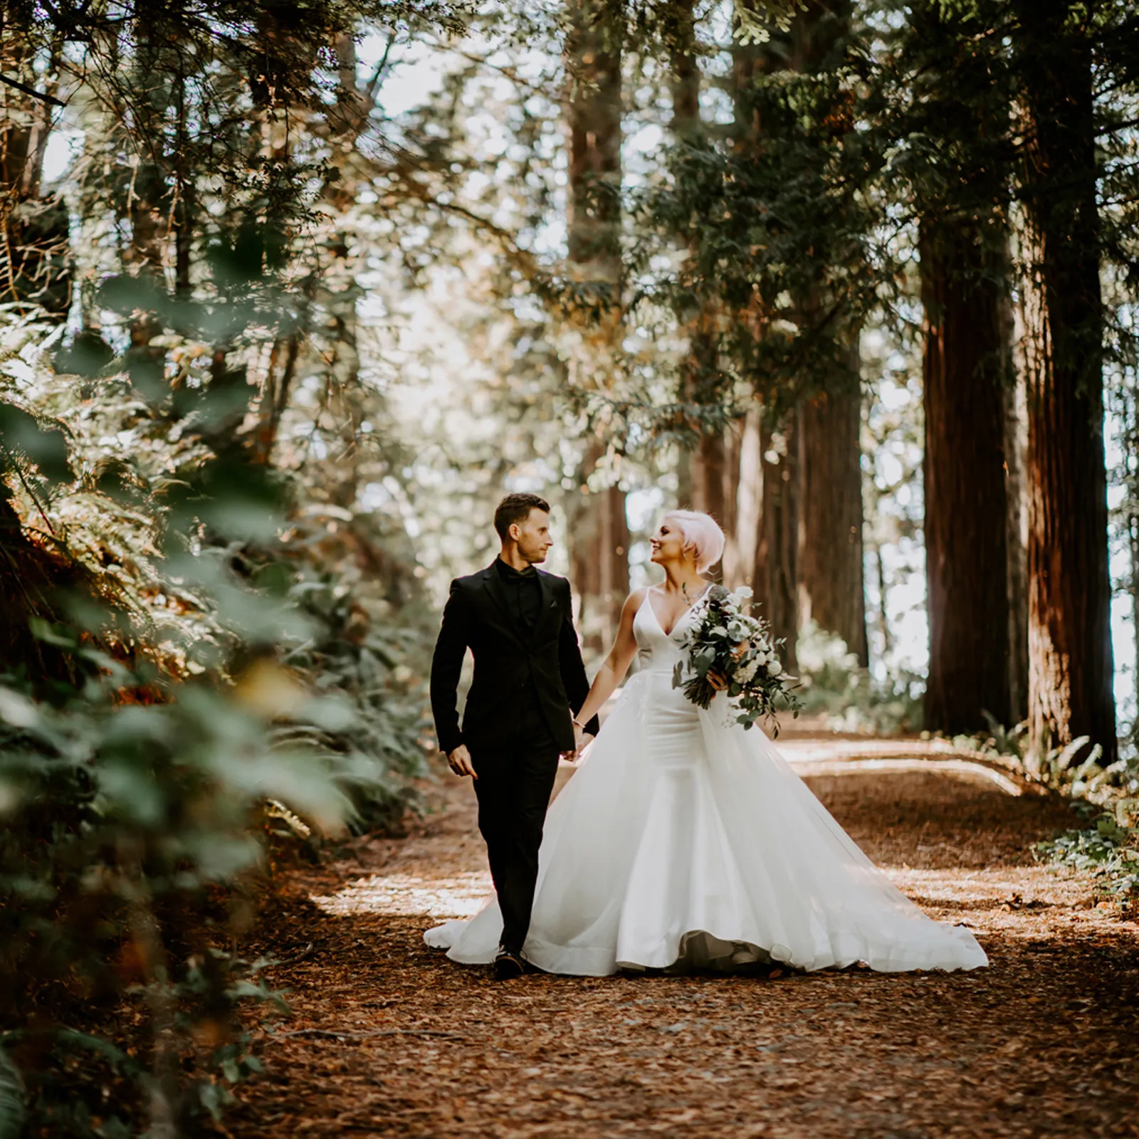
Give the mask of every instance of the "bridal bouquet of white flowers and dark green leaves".
M 772 641 L 768 623 L 745 612 L 751 596 L 746 585 L 735 592 L 723 585 L 708 589 L 699 620 L 688 623 L 680 641 L 688 658 L 673 670 L 672 687 L 707 708 L 720 690 L 713 683 L 719 678 L 736 723 L 751 728 L 768 718 L 775 735 L 779 731 L 775 713 L 786 708 L 798 715 L 802 700 L 793 690 L 797 678 L 784 672 L 776 652 L 782 641 Z

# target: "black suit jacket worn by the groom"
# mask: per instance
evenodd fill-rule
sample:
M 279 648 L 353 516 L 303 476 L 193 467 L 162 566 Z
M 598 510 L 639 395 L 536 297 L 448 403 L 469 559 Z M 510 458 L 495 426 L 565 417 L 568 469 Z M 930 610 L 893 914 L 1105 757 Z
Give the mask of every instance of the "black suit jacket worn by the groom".
M 527 630 L 511 612 L 492 564 L 451 582 L 431 664 L 431 706 L 440 749 L 466 744 L 472 754 L 523 745 L 518 724 L 536 700 L 559 751 L 574 746 L 572 713 L 585 703 L 589 680 L 573 626 L 570 582 L 538 571 L 541 608 Z M 457 689 L 467 649 L 475 677 L 459 727 Z M 585 730 L 597 734 L 597 719 Z

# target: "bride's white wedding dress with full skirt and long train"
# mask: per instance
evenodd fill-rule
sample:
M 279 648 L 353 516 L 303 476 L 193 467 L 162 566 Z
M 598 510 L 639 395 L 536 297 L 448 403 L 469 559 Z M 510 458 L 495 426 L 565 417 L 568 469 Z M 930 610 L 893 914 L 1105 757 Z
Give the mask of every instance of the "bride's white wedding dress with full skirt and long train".
M 697 603 L 698 608 L 702 603 Z M 672 687 L 683 656 L 646 595 L 639 670 L 550 808 L 525 956 L 550 973 L 621 968 L 973 969 L 974 936 L 926 917 L 854 845 L 759 728 Z M 429 929 L 456 961 L 494 958 L 498 903 Z

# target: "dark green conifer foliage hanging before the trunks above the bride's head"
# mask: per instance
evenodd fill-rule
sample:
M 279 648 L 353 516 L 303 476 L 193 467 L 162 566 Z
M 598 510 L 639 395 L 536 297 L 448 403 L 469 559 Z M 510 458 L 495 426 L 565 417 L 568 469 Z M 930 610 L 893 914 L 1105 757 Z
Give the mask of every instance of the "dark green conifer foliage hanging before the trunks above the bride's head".
M 672 144 L 667 178 L 633 203 L 637 303 L 697 322 L 708 341 L 677 402 L 641 409 L 657 431 L 730 409 L 740 388 L 779 410 L 849 384 L 855 330 L 888 282 L 869 195 L 882 159 L 853 130 L 857 56 L 839 36 L 818 66 L 794 69 L 790 50 L 776 30 L 762 48 L 735 48 L 734 74 L 747 77 L 731 89 L 732 125 Z M 667 252 L 678 244 L 682 263 Z

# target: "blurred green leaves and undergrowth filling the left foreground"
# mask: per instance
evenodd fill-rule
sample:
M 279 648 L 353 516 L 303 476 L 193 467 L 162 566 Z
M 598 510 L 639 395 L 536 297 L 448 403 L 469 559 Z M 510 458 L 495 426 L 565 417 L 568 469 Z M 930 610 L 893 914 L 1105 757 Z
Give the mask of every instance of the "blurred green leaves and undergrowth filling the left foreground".
M 267 843 L 423 773 L 413 633 L 256 446 L 246 369 L 298 317 L 245 248 L 207 300 L 110 279 L 108 339 L 0 313 L 0 1137 L 219 1115 L 240 1006 L 280 1003 L 235 951 Z

